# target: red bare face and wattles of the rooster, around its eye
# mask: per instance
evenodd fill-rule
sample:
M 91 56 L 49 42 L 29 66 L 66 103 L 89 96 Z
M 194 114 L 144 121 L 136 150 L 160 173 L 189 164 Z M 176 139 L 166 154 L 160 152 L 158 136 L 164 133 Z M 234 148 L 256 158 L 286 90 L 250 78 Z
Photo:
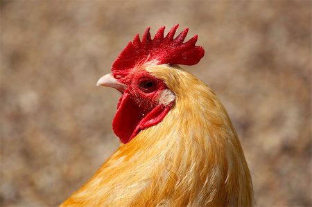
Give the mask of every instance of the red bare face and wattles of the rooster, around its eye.
M 148 127 L 157 125 L 171 109 L 171 105 L 159 103 L 160 93 L 167 89 L 166 84 L 147 71 L 139 70 L 119 78 L 126 84 L 117 105 L 113 120 L 113 130 L 122 143 L 128 143 Z

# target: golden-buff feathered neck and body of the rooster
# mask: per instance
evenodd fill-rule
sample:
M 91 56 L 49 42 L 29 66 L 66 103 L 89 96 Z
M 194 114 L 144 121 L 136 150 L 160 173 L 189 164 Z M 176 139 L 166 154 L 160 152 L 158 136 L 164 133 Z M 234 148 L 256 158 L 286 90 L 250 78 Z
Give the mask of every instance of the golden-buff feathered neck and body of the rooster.
M 121 144 L 61 206 L 252 206 L 248 165 L 215 93 L 177 65 L 144 62 L 131 74 L 138 73 L 164 82 L 155 97 L 169 110 Z M 150 106 L 142 111 L 151 113 L 156 107 Z

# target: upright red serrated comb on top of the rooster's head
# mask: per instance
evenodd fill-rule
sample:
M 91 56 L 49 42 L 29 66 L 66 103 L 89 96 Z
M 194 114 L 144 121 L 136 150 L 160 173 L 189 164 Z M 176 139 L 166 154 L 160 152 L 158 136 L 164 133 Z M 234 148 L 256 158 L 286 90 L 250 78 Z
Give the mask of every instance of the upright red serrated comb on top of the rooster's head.
M 146 28 L 142 42 L 139 35 L 136 35 L 112 65 L 114 75 L 124 74 L 125 70 L 132 69 L 138 62 L 152 60 L 156 60 L 157 64 L 197 64 L 205 53 L 201 46 L 195 46 L 198 35 L 183 43 L 189 31 L 189 28 L 186 28 L 173 39 L 178 26 L 173 26 L 166 37 L 164 26 L 159 28 L 154 39 L 150 38 L 150 27 Z

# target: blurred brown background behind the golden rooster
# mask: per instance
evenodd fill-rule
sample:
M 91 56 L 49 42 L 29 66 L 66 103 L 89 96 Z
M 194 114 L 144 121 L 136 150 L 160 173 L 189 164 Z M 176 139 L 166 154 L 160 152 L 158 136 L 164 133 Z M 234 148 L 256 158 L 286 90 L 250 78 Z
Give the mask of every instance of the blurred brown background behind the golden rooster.
M 1 206 L 56 206 L 119 145 L 96 87 L 137 33 L 189 27 L 258 206 L 311 206 L 311 1 L 1 1 Z

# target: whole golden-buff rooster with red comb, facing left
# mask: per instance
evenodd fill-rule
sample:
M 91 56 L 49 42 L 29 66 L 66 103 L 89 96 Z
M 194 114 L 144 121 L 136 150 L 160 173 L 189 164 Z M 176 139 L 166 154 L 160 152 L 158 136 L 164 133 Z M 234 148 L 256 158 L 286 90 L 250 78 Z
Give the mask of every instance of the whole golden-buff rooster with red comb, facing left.
M 97 85 L 121 92 L 121 145 L 61 206 L 252 206 L 250 171 L 214 91 L 177 64 L 204 56 L 178 25 L 135 36 Z

